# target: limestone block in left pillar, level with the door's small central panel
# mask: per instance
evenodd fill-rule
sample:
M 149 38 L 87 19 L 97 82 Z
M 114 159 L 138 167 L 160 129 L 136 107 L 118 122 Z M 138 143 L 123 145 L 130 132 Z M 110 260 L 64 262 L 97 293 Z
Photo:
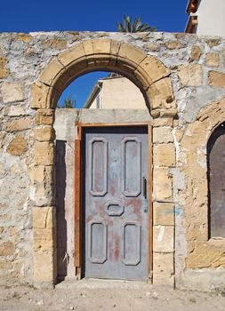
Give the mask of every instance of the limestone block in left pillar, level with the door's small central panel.
M 56 209 L 52 206 L 33 208 L 33 227 L 36 229 L 51 229 L 56 227 Z

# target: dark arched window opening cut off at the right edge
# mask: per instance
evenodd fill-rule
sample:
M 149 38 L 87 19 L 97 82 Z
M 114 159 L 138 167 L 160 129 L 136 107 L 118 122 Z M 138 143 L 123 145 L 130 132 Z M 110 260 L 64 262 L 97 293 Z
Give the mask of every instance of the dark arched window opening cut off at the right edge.
M 209 237 L 225 237 L 225 122 L 207 144 Z

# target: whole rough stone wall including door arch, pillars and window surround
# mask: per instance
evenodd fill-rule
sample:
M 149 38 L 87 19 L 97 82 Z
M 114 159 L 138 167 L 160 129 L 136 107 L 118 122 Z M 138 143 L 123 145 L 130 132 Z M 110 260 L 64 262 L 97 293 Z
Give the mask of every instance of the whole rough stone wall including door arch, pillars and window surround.
M 225 121 L 225 40 L 105 32 L 0 34 L 0 283 L 56 283 L 54 110 L 69 83 L 99 69 L 130 78 L 149 109 L 153 283 L 221 286 L 225 239 L 208 238 L 206 144 Z

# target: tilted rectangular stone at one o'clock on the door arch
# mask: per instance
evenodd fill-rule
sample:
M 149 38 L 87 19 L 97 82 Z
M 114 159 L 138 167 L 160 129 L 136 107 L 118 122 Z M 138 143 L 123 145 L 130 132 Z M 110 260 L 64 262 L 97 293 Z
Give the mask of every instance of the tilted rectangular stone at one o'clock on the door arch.
M 146 58 L 146 54 L 128 44 L 121 44 L 118 55 L 121 58 L 132 60 L 135 64 L 140 64 Z

